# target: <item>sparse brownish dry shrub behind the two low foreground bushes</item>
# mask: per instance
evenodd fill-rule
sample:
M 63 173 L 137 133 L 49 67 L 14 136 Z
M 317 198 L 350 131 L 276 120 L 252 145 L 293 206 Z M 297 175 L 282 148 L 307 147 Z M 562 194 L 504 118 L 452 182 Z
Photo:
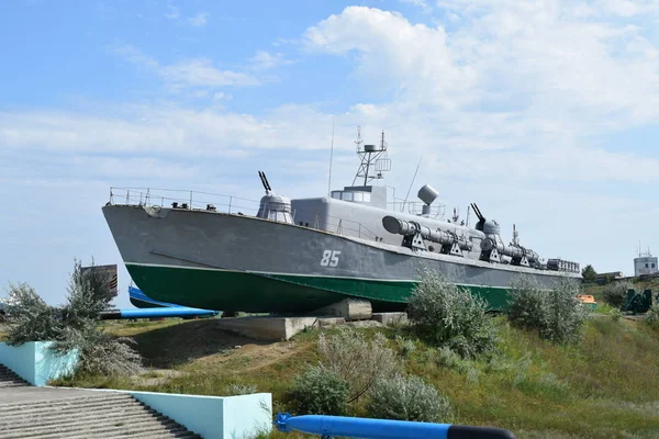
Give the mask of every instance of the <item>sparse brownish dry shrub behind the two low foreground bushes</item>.
M 391 376 L 400 368 L 395 352 L 387 348 L 387 339 L 379 333 L 369 341 L 360 333 L 339 328 L 332 336 L 321 334 L 319 348 L 323 365 L 349 383 L 348 403 L 368 392 L 380 378 Z

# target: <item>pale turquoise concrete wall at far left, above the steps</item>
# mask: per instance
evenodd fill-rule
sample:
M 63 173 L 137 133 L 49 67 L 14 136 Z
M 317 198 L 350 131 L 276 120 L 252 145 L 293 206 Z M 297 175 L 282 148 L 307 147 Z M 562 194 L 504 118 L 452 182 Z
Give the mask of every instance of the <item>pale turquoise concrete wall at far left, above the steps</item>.
M 0 363 L 32 385 L 46 385 L 72 373 L 78 363 L 78 352 L 57 356 L 48 349 L 52 341 L 31 341 L 21 346 L 0 342 Z

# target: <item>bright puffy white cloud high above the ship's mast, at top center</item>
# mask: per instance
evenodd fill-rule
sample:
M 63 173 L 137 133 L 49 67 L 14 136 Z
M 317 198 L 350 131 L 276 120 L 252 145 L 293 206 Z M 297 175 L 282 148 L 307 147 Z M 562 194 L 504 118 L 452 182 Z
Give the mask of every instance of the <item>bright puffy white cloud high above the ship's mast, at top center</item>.
M 476 85 L 476 71 L 458 63 L 440 26 L 412 24 L 395 12 L 349 7 L 310 27 L 305 41 L 314 52 L 355 53 L 357 74 L 365 82 L 393 85 L 401 99 L 431 99 L 444 106 L 471 101 L 465 90 Z

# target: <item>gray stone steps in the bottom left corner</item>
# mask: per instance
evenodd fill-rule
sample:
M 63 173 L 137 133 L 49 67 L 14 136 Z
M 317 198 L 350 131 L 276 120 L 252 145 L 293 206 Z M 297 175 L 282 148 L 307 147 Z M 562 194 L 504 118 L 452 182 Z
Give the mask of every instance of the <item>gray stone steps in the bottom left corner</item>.
M 0 439 L 23 438 L 201 437 L 129 394 L 32 387 L 2 368 Z

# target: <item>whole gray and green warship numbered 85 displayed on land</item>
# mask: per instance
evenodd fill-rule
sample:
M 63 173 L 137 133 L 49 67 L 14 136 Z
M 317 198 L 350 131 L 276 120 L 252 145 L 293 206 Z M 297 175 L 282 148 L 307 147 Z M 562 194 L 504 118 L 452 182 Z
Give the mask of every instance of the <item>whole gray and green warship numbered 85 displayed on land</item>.
M 401 311 L 422 271 L 433 270 L 502 309 L 517 278 L 547 289 L 581 279 L 579 263 L 541 259 L 516 230 L 504 244 L 500 224 L 476 203 L 465 219 L 456 210 L 445 218 L 429 184 L 420 201 L 389 201 L 377 184 L 391 170 L 384 133 L 378 144 L 360 134 L 355 143 L 353 184 L 323 196 L 291 200 L 259 171 L 265 195 L 252 213 L 230 195 L 211 203 L 209 193 L 111 188 L 103 215 L 144 294 L 198 308 L 309 313 L 354 297 L 373 312 Z

